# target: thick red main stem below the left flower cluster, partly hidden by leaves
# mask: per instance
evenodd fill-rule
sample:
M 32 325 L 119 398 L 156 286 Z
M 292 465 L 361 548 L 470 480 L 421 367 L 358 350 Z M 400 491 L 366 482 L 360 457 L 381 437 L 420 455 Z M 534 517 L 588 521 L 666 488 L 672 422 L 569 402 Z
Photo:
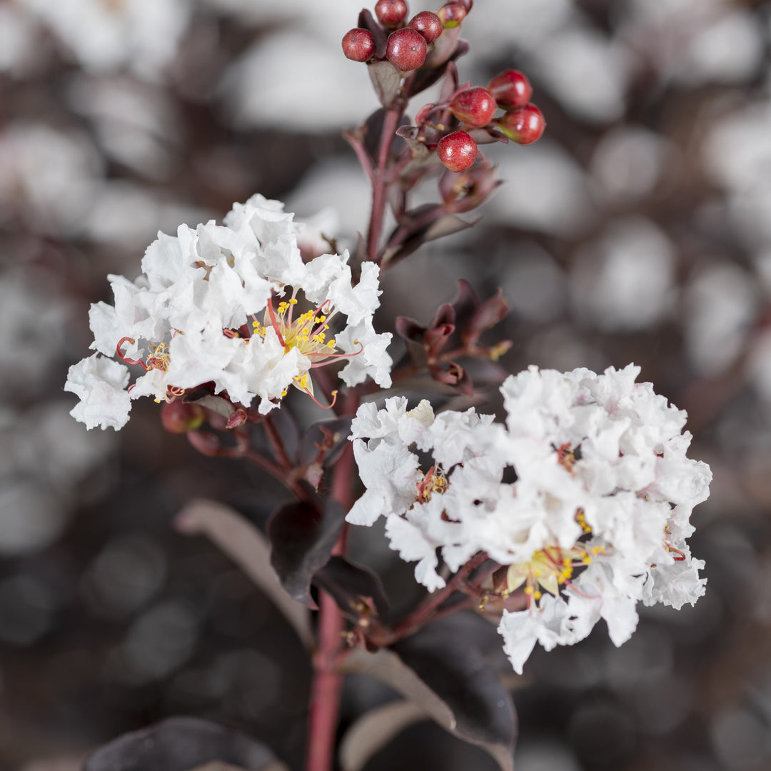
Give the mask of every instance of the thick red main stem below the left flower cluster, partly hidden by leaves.
M 359 396 L 355 391 L 345 396 L 342 414 L 356 411 Z M 348 443 L 335 464 L 332 476 L 332 498 L 347 511 L 352 504 L 354 478 L 353 446 Z M 344 525 L 332 554 L 345 554 Z M 305 748 L 306 771 L 331 771 L 335 760 L 335 732 L 340 711 L 342 675 L 335 672 L 335 659 L 342 646 L 345 630 L 337 603 L 325 592 L 318 600 L 318 650 L 313 658 L 314 675 L 308 715 L 308 743 Z

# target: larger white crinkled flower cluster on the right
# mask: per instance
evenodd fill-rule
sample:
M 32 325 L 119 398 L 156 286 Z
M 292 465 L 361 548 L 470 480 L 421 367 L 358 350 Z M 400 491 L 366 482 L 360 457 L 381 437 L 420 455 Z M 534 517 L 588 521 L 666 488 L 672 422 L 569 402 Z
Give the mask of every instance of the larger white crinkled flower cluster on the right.
M 473 409 L 434 416 L 426 401 L 362 405 L 352 439 L 367 489 L 348 521 L 385 516 L 430 590 L 444 585 L 437 548 L 453 571 L 480 551 L 508 566 L 492 591 L 527 596 L 498 628 L 517 672 L 536 642 L 572 645 L 600 618 L 621 645 L 638 601 L 680 608 L 704 593 L 685 539 L 712 478 L 685 456 L 685 412 L 635 383 L 639 371 L 530 367 L 503 383 L 505 427 Z

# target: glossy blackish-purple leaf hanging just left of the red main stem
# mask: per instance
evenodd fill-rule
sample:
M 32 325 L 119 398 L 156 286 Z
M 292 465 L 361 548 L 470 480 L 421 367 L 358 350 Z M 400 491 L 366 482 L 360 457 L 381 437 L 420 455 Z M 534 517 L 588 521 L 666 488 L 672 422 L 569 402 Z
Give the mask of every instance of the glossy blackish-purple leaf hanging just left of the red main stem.
M 337 543 L 345 510 L 334 500 L 314 495 L 278 507 L 268 520 L 271 565 L 281 585 L 298 602 L 316 608 L 311 578 L 326 564 Z

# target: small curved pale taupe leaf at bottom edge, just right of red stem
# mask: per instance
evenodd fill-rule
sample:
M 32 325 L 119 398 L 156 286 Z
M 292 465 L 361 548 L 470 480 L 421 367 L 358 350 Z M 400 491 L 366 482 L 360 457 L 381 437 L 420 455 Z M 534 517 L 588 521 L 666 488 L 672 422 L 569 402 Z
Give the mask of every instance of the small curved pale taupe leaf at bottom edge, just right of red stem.
M 340 742 L 342 771 L 362 771 L 369 759 L 416 722 L 430 715 L 414 702 L 392 702 L 362 715 Z

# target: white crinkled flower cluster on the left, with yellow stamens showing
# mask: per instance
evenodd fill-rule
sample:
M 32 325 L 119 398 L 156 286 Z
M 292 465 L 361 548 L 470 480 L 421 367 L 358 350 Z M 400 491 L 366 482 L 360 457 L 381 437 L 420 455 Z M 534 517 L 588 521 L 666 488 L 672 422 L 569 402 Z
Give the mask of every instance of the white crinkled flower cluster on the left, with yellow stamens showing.
M 347 385 L 370 376 L 387 388 L 391 335 L 372 327 L 378 266 L 362 264 L 353 285 L 347 252 L 305 263 L 292 216 L 255 195 L 234 205 L 224 227 L 159 234 L 136 281 L 109 276 L 114 307 L 99 302 L 89 314 L 98 353 L 69 369 L 65 390 L 81 399 L 72 416 L 119 429 L 130 399 L 170 401 L 206 383 L 244 406 L 259 396 L 269 412 L 290 385 L 313 396 L 311 369 L 341 359 Z M 126 389 L 129 369 L 108 356 L 144 374 Z

